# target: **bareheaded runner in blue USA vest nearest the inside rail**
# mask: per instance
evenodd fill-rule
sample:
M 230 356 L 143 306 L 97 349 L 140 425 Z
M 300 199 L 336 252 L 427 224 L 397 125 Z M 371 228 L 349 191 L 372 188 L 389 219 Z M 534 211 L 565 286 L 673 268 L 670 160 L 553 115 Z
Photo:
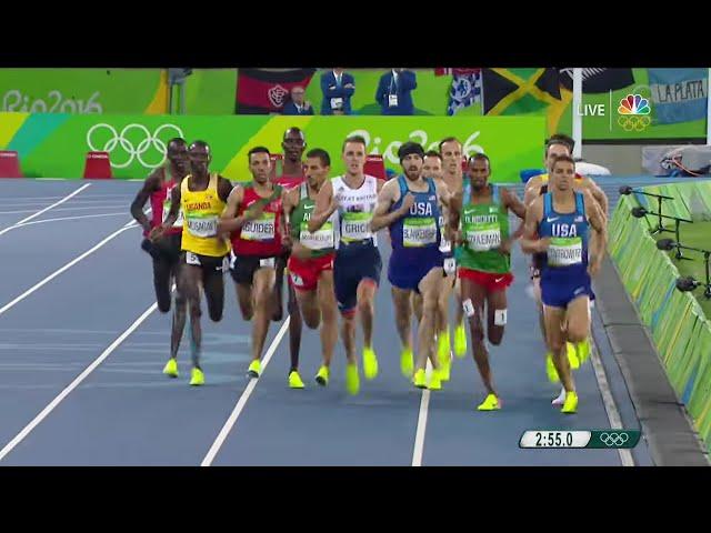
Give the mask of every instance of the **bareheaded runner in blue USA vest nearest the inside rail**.
M 553 364 L 565 389 L 563 413 L 574 413 L 578 408 L 565 342 L 577 343 L 588 336 L 590 278 L 600 270 L 607 241 L 600 207 L 589 191 L 574 191 L 574 177 L 572 158 L 555 159 L 549 192 L 527 210 L 521 239 L 525 253 L 545 252 L 541 265 L 541 299 Z M 597 233 L 595 239 L 590 239 L 590 230 Z

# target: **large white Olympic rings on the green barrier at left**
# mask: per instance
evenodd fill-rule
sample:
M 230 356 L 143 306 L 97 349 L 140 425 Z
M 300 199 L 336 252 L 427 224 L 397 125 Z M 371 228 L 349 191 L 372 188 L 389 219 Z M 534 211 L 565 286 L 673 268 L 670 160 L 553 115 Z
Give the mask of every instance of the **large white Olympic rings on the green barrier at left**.
M 101 130 L 108 130 L 108 135 L 100 134 Z M 129 135 L 132 130 L 137 130 L 138 133 Z M 172 133 L 161 135 L 166 130 L 172 130 Z M 156 169 L 166 162 L 166 143 L 176 137 L 184 137 L 182 130 L 176 124 L 162 124 L 153 133 L 143 124 L 128 124 L 121 130 L 121 133 L 118 133 L 112 125 L 100 123 L 92 125 L 87 132 L 87 145 L 92 152 L 109 152 L 110 154 L 113 154 L 120 147 L 120 151 L 126 152 L 128 159 L 117 162 L 114 158 L 110 158 L 111 167 L 116 169 L 126 169 L 134 159 L 138 159 L 138 162 L 147 169 Z M 107 140 L 101 144 L 100 141 L 103 139 Z M 149 150 L 151 157 L 147 158 L 147 161 L 143 157 Z

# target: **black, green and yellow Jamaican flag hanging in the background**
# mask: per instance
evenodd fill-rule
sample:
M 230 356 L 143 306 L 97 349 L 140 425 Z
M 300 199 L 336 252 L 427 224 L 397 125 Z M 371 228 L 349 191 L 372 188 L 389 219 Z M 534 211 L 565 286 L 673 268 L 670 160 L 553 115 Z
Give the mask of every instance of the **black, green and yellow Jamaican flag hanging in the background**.
M 559 69 L 483 69 L 481 92 L 484 114 L 544 114 L 549 133 L 572 101 Z

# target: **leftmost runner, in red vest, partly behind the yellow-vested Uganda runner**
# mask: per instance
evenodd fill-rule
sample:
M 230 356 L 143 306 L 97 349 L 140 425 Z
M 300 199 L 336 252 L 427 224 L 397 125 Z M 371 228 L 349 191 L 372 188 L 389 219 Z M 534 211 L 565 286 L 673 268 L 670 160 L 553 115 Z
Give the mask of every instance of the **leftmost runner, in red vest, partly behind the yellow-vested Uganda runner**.
M 178 279 L 180 265 L 180 242 L 182 237 L 182 215 L 160 239 L 150 241 L 148 235 L 158 228 L 170 211 L 171 190 L 180 188 L 182 179 L 188 174 L 188 144 L 184 139 L 172 139 L 168 142 L 166 152 L 167 163 L 157 168 L 143 182 L 143 187 L 133 203 L 131 214 L 143 228 L 141 248 L 153 258 L 153 286 L 156 301 L 161 313 L 170 311 L 170 288 Z M 143 207 L 150 199 L 151 219 L 143 213 Z M 176 292 L 176 308 L 173 310 L 172 333 L 170 338 L 170 358 L 174 360 L 180 348 L 180 339 L 186 326 L 187 300 Z

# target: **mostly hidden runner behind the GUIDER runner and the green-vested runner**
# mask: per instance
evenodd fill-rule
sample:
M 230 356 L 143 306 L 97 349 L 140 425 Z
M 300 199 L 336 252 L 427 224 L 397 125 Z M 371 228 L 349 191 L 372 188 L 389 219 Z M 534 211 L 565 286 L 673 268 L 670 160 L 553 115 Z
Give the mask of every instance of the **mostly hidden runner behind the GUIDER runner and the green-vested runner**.
M 303 152 L 307 148 L 307 141 L 303 137 L 303 131 L 299 128 L 289 128 L 284 132 L 284 137 L 281 142 L 283 150 L 283 168 L 281 175 L 278 175 L 274 182 L 286 190 L 294 189 L 306 182 L 306 175 L 303 173 Z M 283 314 L 283 282 L 284 270 L 289 262 L 289 249 L 282 248 L 282 253 L 277 258 L 277 280 L 274 283 L 274 298 L 277 299 L 277 312 L 272 320 L 280 321 Z M 287 310 L 289 311 L 289 355 L 291 358 L 291 365 L 289 369 L 289 375 L 292 374 L 299 368 L 299 351 L 301 349 L 301 331 L 303 329 L 301 311 L 297 303 L 297 294 L 291 284 L 288 283 L 289 302 L 287 303 Z

